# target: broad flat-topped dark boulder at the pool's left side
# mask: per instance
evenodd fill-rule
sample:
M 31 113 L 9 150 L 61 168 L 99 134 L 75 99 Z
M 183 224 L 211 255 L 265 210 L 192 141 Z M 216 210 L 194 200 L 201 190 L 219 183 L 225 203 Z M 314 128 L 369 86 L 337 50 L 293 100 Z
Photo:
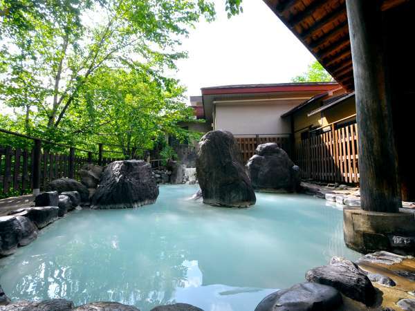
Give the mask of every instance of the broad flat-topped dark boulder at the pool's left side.
M 100 186 L 92 197 L 92 208 L 122 209 L 152 204 L 158 185 L 151 165 L 143 160 L 111 162 L 104 169 Z

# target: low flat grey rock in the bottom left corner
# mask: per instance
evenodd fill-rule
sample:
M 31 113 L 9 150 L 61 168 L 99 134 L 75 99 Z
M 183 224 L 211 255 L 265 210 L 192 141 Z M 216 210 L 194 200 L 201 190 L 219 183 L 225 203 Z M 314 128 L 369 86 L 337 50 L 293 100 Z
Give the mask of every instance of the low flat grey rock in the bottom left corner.
M 73 310 L 73 302 L 65 299 L 44 301 L 17 301 L 0 307 L 1 311 L 69 311 Z

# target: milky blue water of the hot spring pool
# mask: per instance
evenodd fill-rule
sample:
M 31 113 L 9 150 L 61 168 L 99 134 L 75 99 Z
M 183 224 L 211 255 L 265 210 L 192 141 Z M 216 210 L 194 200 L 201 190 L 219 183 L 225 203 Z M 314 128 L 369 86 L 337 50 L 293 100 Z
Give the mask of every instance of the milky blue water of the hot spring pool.
M 254 207 L 228 209 L 190 200 L 196 189 L 162 186 L 139 209 L 71 212 L 0 259 L 1 287 L 13 300 L 251 311 L 331 256 L 358 257 L 343 243 L 341 208 L 325 200 L 257 194 Z

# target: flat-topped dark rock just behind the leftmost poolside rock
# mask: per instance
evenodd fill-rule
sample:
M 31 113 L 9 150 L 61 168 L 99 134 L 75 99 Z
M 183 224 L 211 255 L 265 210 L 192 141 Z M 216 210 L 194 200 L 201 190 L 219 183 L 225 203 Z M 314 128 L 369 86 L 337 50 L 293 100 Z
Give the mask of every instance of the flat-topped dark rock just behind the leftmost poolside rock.
M 42 229 L 50 223 L 57 220 L 59 207 L 43 206 L 43 207 L 25 207 L 10 212 L 14 216 L 24 216 L 32 220 L 37 228 Z

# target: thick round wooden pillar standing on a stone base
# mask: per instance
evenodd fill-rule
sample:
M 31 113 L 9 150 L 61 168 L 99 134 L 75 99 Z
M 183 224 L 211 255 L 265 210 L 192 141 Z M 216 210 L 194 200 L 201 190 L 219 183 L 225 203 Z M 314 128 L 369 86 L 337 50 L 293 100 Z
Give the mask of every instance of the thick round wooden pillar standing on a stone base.
M 346 0 L 359 134 L 360 202 L 367 211 L 402 205 L 379 1 Z

